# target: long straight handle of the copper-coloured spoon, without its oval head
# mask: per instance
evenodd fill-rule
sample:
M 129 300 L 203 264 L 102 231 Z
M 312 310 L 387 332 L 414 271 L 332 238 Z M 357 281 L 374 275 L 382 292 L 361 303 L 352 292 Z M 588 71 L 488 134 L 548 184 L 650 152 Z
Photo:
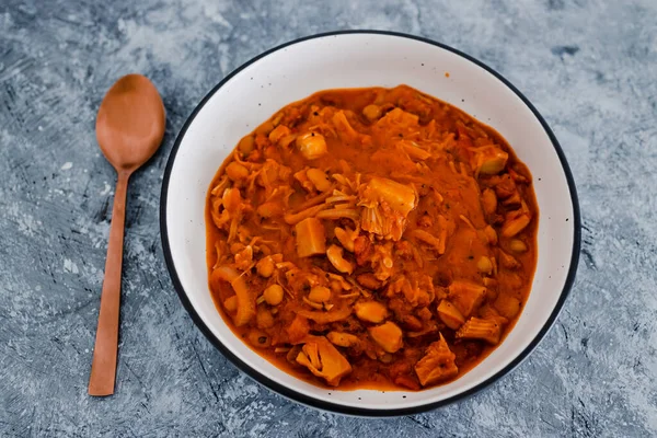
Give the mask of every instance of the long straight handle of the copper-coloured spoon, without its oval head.
M 123 240 L 129 178 L 129 172 L 118 172 L 114 207 L 112 209 L 107 258 L 105 260 L 105 279 L 101 292 L 101 311 L 99 313 L 93 361 L 91 362 L 91 376 L 89 378 L 89 395 L 103 396 L 114 393 L 120 314 Z

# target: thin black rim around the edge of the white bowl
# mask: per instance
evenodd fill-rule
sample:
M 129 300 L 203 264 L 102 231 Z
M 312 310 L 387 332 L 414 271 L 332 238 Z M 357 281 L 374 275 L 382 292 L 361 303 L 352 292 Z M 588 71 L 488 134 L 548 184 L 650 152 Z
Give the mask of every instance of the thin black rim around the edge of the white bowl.
M 541 123 L 543 129 L 550 137 L 550 140 L 552 141 L 552 146 L 554 147 L 554 150 L 556 151 L 556 154 L 558 155 L 564 174 L 566 176 L 566 180 L 568 183 L 568 189 L 570 192 L 570 200 L 573 203 L 574 235 L 573 235 L 573 253 L 570 256 L 570 265 L 568 267 L 568 275 L 566 277 L 566 281 L 564 284 L 564 288 L 561 292 L 558 301 L 556 302 L 556 306 L 552 310 L 550 318 L 548 318 L 548 321 L 545 322 L 545 324 L 543 325 L 541 331 L 537 334 L 537 336 L 532 339 L 532 342 L 520 353 L 520 355 L 518 355 L 518 357 L 516 357 L 506 367 L 504 367 L 502 370 L 499 370 L 495 374 L 491 376 L 488 379 L 484 380 L 483 382 L 476 384 L 475 387 L 471 388 L 468 391 L 461 392 L 451 397 L 448 397 L 448 399 L 445 399 L 445 400 L 441 400 L 438 402 L 413 406 L 413 407 L 390 408 L 390 410 L 371 410 L 371 408 L 353 407 L 353 406 L 345 406 L 345 405 L 342 405 L 338 403 L 325 402 L 322 400 L 318 400 L 318 399 L 308 396 L 308 395 L 297 392 L 295 390 L 291 390 L 291 389 L 285 387 L 284 384 L 278 383 L 278 382 L 269 379 L 268 377 L 262 374 L 257 370 L 251 368 L 249 365 L 246 365 L 242 360 L 240 360 L 226 345 L 223 345 L 212 334 L 212 332 L 206 326 L 206 324 L 201 321 L 198 313 L 196 313 L 196 310 L 189 302 L 189 300 L 187 298 L 187 293 L 185 292 L 185 289 L 183 288 L 181 280 L 177 276 L 177 273 L 176 273 L 176 269 L 175 269 L 175 266 L 173 263 L 173 258 L 171 256 L 171 247 L 169 245 L 169 237 L 168 237 L 168 230 L 166 230 L 166 200 L 168 200 L 169 180 L 171 176 L 171 170 L 173 169 L 173 163 L 175 161 L 177 150 L 181 146 L 183 138 L 185 137 L 185 132 L 187 131 L 187 128 L 189 127 L 192 122 L 194 122 L 194 118 L 196 117 L 198 112 L 205 106 L 207 101 L 217 92 L 217 90 L 219 90 L 221 87 L 223 87 L 223 84 L 226 84 L 228 81 L 230 81 L 231 78 L 233 78 L 235 74 L 238 74 L 244 68 L 256 62 L 258 59 L 264 58 L 265 56 L 267 56 L 269 54 L 273 54 L 274 51 L 280 50 L 287 46 L 290 46 L 290 45 L 293 45 L 297 43 L 301 43 L 301 42 L 304 42 L 308 39 L 322 38 L 322 37 L 326 37 L 326 36 L 347 35 L 347 34 L 388 35 L 388 36 L 396 36 L 396 37 L 401 37 L 401 38 L 415 39 L 418 42 L 430 44 L 433 46 L 440 47 L 445 50 L 449 50 L 462 58 L 465 58 L 469 61 L 471 61 L 471 62 L 475 64 L 476 66 L 483 68 L 484 70 L 488 71 L 494 77 L 496 77 L 506 87 L 508 87 L 511 91 L 514 91 L 518 95 L 518 97 L 520 97 L 522 100 L 525 105 L 527 105 L 527 107 L 533 113 L 533 115 Z M 339 413 L 339 414 L 347 414 L 347 415 L 390 417 L 390 416 L 418 414 L 422 412 L 426 412 L 426 411 L 435 410 L 440 406 L 448 405 L 450 403 L 453 403 L 453 402 L 457 402 L 460 400 L 464 400 L 464 399 L 473 395 L 474 393 L 483 390 L 484 388 L 489 387 L 492 383 L 496 382 L 502 377 L 506 376 L 509 371 L 515 369 L 518 365 L 520 365 L 528 357 L 528 355 L 537 347 L 537 345 L 541 342 L 541 339 L 545 336 L 548 331 L 552 327 L 552 325 L 556 321 L 556 318 L 558 316 L 561 309 L 562 309 L 566 298 L 568 297 L 570 288 L 573 287 L 573 283 L 575 281 L 575 273 L 577 270 L 577 264 L 579 262 L 581 223 L 580 223 L 580 216 L 579 216 L 579 201 L 577 199 L 575 181 L 573 180 L 573 174 L 570 173 L 570 169 L 568 166 L 568 163 L 566 162 L 564 152 L 560 146 L 558 141 L 556 140 L 556 137 L 554 136 L 554 134 L 552 132 L 550 127 L 548 126 L 548 123 L 545 122 L 545 119 L 543 119 L 543 117 L 541 116 L 541 114 L 539 114 L 537 108 L 529 102 L 529 100 L 527 97 L 525 97 L 525 95 L 520 91 L 518 91 L 518 89 L 516 89 L 508 80 L 506 80 L 502 74 L 499 74 L 498 72 L 493 70 L 491 67 L 488 67 L 485 64 L 481 62 L 480 60 L 471 57 L 470 55 L 466 55 L 466 54 L 464 54 L 460 50 L 457 50 L 452 47 L 446 46 L 445 44 L 436 43 L 431 39 L 427 39 L 424 37 L 407 35 L 407 34 L 397 33 L 397 32 L 365 31 L 364 30 L 364 31 L 336 31 L 336 32 L 327 32 L 327 33 L 322 33 L 322 34 L 316 34 L 316 35 L 310 35 L 310 36 L 304 36 L 304 37 L 291 41 L 289 43 L 283 44 L 278 47 L 274 47 L 274 48 L 256 56 L 255 58 L 251 59 L 250 61 L 243 64 L 235 70 L 233 70 L 230 74 L 228 74 L 226 78 L 223 78 L 223 80 L 221 82 L 219 82 L 212 90 L 210 90 L 209 93 L 207 93 L 205 95 L 205 97 L 200 101 L 200 103 L 196 106 L 196 108 L 194 108 L 194 111 L 192 112 L 192 114 L 189 115 L 187 120 L 185 122 L 185 125 L 181 129 L 181 131 L 175 140 L 175 143 L 173 145 L 173 149 L 171 150 L 171 153 L 169 155 L 166 169 L 164 170 L 164 180 L 162 182 L 162 194 L 160 197 L 160 234 L 162 238 L 162 246 L 164 250 L 164 258 L 166 261 L 166 267 L 169 269 L 169 274 L 171 275 L 171 279 L 173 281 L 175 290 L 177 291 L 177 295 L 178 295 L 183 306 L 185 307 L 185 309 L 192 316 L 192 320 L 194 321 L 194 323 L 203 332 L 203 334 L 205 334 L 206 337 L 215 345 L 215 347 L 217 347 L 217 349 L 219 349 L 219 351 L 221 351 L 223 354 L 223 356 L 228 357 L 240 370 L 242 370 L 244 373 L 250 376 L 252 379 L 254 379 L 258 383 L 265 385 L 269 390 L 277 392 L 278 394 L 281 394 L 290 400 L 293 400 L 296 402 L 299 402 L 299 403 L 302 403 L 302 404 L 306 404 L 306 405 L 309 405 L 312 407 L 316 407 L 316 408 L 330 411 L 330 412 L 335 412 L 335 413 Z

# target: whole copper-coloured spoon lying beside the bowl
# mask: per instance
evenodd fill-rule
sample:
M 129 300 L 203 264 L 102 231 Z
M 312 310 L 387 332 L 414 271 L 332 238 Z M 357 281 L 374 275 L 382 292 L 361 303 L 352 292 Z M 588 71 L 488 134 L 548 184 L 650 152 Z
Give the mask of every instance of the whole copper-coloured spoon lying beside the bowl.
M 114 393 L 128 180 L 160 147 L 165 123 L 162 99 L 151 81 L 141 74 L 128 74 L 116 81 L 99 108 L 96 139 L 116 170 L 117 181 L 89 379 L 90 395 Z

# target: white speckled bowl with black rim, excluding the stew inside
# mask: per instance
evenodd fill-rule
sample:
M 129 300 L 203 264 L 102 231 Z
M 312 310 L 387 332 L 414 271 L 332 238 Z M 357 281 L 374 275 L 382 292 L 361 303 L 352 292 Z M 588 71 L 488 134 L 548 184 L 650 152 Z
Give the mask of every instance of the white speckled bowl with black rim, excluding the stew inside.
M 449 73 L 449 74 L 446 74 Z M 530 169 L 540 209 L 539 257 L 529 300 L 506 339 L 458 380 L 419 392 L 326 390 L 255 354 L 221 319 L 208 289 L 205 199 L 240 138 L 285 105 L 316 91 L 408 84 L 493 126 Z M 297 402 L 354 415 L 435 408 L 506 374 L 554 323 L 579 256 L 579 208 L 556 138 L 529 101 L 482 62 L 445 45 L 390 32 L 336 32 L 301 38 L 246 62 L 210 91 L 187 119 L 164 173 L 160 222 L 166 265 L 201 332 L 242 371 Z

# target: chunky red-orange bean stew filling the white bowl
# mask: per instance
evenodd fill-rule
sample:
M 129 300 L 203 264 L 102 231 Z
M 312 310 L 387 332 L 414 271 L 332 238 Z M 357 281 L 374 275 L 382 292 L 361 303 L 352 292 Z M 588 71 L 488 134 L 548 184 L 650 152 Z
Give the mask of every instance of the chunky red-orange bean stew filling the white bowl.
M 233 332 L 289 373 L 422 390 L 511 328 L 538 216 L 527 166 L 460 110 L 405 85 L 322 91 L 219 169 L 209 286 Z

